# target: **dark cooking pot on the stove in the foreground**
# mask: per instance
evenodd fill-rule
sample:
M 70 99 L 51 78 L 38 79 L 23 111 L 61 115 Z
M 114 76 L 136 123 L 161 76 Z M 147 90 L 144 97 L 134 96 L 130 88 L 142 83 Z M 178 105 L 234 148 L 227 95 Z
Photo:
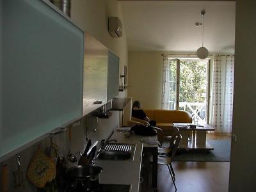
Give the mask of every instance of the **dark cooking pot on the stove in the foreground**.
M 91 165 L 78 165 L 67 170 L 67 191 L 91 191 L 99 186 L 99 174 L 102 168 Z

